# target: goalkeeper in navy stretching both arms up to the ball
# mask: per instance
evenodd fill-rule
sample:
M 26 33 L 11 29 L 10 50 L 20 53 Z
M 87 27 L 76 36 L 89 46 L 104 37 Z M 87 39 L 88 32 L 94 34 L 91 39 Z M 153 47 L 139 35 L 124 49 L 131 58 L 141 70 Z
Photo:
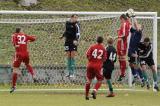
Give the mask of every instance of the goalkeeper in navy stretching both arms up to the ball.
M 129 18 L 130 16 L 127 15 Z M 135 16 L 135 15 L 134 15 Z M 136 79 L 140 78 L 142 81 L 142 87 L 144 86 L 144 79 L 142 75 L 141 69 L 138 67 L 139 58 L 138 58 L 138 45 L 142 41 L 143 34 L 142 34 L 142 27 L 140 24 L 138 24 L 136 18 L 133 16 L 131 17 L 134 22 L 134 26 L 131 27 L 131 37 L 129 42 L 129 48 L 128 48 L 128 61 L 129 66 L 131 67 L 132 75 L 134 77 L 132 84 L 135 83 Z

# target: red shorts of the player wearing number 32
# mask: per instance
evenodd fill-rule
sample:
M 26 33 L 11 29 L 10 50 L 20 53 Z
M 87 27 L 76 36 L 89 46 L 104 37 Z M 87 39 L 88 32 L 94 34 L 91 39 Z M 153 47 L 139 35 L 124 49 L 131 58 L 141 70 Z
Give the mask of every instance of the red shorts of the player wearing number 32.
M 29 55 L 16 53 L 13 60 L 13 67 L 20 67 L 22 62 L 25 64 L 29 64 Z

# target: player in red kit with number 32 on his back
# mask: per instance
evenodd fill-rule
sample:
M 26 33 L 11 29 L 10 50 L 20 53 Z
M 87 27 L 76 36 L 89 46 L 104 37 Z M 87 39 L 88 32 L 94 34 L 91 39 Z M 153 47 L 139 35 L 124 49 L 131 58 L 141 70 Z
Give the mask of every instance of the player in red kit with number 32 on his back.
M 28 42 L 35 41 L 35 36 L 29 36 L 21 32 L 21 28 L 16 28 L 16 32 L 12 35 L 12 43 L 15 47 L 15 56 L 13 61 L 13 73 L 12 73 L 12 88 L 10 93 L 14 92 L 16 88 L 16 81 L 19 72 L 19 67 L 21 63 L 25 63 L 28 72 L 32 75 L 32 78 L 35 79 L 35 73 L 32 66 L 29 64 L 29 52 L 27 49 Z

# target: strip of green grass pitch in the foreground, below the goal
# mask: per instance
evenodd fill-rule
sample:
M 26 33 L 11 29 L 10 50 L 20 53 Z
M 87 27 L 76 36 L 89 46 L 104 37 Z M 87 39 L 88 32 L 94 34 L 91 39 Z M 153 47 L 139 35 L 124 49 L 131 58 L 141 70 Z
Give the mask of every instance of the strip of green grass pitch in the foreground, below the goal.
M 83 93 L 0 92 L 0 106 L 160 106 L 160 93 L 153 91 L 117 91 L 114 98 L 105 96 L 100 93 L 96 100 L 86 101 Z

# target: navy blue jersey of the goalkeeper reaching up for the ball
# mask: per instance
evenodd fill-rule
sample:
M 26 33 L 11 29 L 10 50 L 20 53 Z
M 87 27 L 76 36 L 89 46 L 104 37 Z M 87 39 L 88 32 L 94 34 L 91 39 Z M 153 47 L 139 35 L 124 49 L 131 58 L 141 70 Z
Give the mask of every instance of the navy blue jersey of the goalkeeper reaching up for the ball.
M 130 29 L 131 37 L 130 37 L 130 43 L 128 48 L 128 56 L 130 57 L 133 53 L 136 53 L 138 51 L 138 44 L 141 41 L 142 38 L 142 31 L 137 31 L 134 28 Z

